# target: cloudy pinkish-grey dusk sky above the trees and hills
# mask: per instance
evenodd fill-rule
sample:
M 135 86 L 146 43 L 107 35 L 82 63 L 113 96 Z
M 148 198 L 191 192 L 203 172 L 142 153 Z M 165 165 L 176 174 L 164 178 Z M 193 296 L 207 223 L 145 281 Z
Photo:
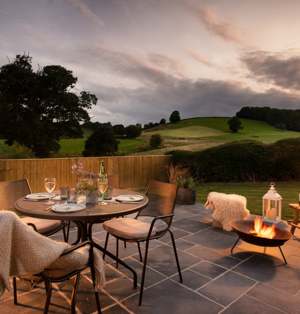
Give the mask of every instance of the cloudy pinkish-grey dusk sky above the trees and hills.
M 298 0 L 0 0 L 0 66 L 29 52 L 98 103 L 91 121 L 300 109 Z M 6 57 L 7 56 L 7 57 Z

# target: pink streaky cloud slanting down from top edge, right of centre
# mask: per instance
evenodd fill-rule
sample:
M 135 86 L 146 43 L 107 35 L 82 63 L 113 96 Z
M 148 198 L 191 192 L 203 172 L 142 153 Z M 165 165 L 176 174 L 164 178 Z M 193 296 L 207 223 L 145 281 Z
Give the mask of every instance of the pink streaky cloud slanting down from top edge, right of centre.
M 201 20 L 210 35 L 236 44 L 243 44 L 244 38 L 249 36 L 249 30 L 238 28 L 230 21 L 221 20 L 214 12 L 216 7 L 203 5 L 194 0 L 179 1 L 192 15 Z

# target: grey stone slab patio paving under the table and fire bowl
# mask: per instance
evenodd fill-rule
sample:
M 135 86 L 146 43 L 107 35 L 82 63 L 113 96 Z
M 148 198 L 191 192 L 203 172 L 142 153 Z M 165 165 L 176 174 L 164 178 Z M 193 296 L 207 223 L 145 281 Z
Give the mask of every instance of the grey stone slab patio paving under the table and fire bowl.
M 134 216 L 134 215 L 132 215 Z M 290 230 L 286 222 L 280 226 Z M 255 314 L 300 313 L 300 230 L 282 251 L 278 248 L 253 246 L 243 241 L 230 252 L 237 239 L 234 232 L 212 227 L 212 212 L 203 204 L 178 206 L 172 223 L 183 282 L 179 283 L 172 242 L 169 234 L 150 241 L 142 306 L 138 306 L 139 287 L 132 288 L 131 273 L 105 258 L 106 286 L 99 292 L 104 314 Z M 76 238 L 71 229 L 70 241 Z M 104 246 L 106 232 L 95 228 L 94 240 Z M 51 236 L 62 240 L 62 234 Z M 145 244 L 141 244 L 144 251 Z M 115 239 L 108 249 L 115 252 Z M 141 280 L 142 263 L 137 245 L 119 245 L 119 256 L 137 271 Z M 53 284 L 49 313 L 69 313 L 74 279 Z M 17 280 L 18 305 L 13 293 L 5 292 L 0 313 L 42 313 L 46 300 L 45 288 Z M 81 275 L 76 300 L 78 313 L 96 313 L 90 272 Z

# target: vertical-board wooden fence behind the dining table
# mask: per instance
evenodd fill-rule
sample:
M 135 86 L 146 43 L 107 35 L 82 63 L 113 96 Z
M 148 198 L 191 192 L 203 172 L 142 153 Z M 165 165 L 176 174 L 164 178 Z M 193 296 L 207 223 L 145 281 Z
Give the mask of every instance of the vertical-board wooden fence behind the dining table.
M 109 175 L 120 175 L 122 189 L 136 190 L 148 186 L 151 179 L 168 181 L 165 165 L 171 162 L 171 155 L 122 156 L 57 159 L 6 159 L 0 160 L 0 181 L 27 178 L 32 193 L 45 190 L 45 178 L 56 178 L 56 188 L 69 185 L 75 187 L 77 175 L 72 174 L 72 165 L 83 163 L 83 170 L 100 172 L 101 160 Z

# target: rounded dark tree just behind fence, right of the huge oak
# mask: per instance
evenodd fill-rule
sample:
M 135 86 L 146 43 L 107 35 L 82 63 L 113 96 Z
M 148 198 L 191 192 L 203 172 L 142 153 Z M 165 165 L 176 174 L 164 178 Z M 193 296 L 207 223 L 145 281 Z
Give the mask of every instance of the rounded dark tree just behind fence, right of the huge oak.
M 104 123 L 85 141 L 82 152 L 83 157 L 112 155 L 118 150 L 119 143 L 115 138 L 113 128 Z

